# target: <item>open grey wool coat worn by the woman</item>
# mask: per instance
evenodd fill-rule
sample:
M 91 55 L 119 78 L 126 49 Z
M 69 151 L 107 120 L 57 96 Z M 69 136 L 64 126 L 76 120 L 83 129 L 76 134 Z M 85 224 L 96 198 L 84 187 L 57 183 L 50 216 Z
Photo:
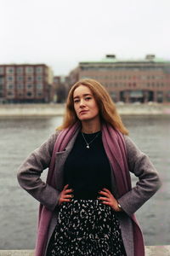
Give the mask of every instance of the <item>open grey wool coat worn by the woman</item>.
M 74 145 L 77 133 L 71 138 L 65 151 L 56 153 L 55 166 L 57 166 L 57 172 L 55 172 L 55 179 L 57 186 L 56 189 L 54 189 L 47 183 L 42 182 L 41 173 L 49 166 L 57 136 L 58 131 L 49 137 L 48 141 L 42 143 L 39 148 L 34 150 L 20 166 L 17 175 L 20 186 L 23 189 L 26 189 L 26 191 L 36 198 L 37 201 L 42 203 L 42 205 L 47 207 L 48 210 L 53 212 L 53 217 L 48 228 L 48 241 L 57 224 L 58 214 L 56 211 L 54 212 L 54 209 L 56 209 L 58 205 L 59 193 L 64 188 L 63 167 L 65 160 Z M 156 193 L 156 190 L 161 186 L 161 181 L 148 156 L 139 150 L 130 137 L 124 136 L 124 138 L 127 147 L 127 164 L 129 172 L 132 172 L 138 177 L 139 181 L 133 189 L 128 191 L 121 198 L 117 198 L 116 183 L 113 172 L 111 172 L 111 192 L 122 206 L 123 212 L 119 212 L 118 214 L 122 231 L 122 241 L 127 256 L 133 256 L 133 224 L 130 216 Z

